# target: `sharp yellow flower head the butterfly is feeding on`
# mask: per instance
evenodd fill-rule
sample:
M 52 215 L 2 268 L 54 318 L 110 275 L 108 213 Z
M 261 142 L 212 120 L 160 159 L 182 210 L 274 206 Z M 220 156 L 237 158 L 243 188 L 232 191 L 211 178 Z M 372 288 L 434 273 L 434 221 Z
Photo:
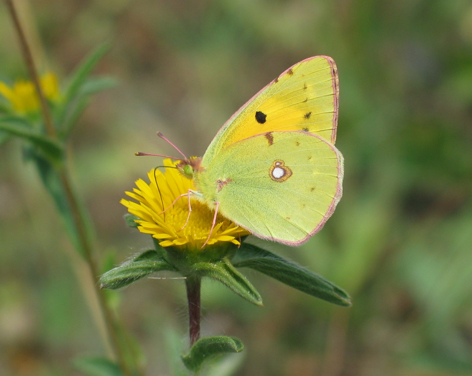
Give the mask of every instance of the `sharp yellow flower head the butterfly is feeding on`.
M 164 166 L 175 167 L 170 159 L 164 159 Z M 189 250 L 200 250 L 208 238 L 213 222 L 214 212 L 206 204 L 191 196 L 192 213 L 188 223 L 188 199 L 181 197 L 175 204 L 174 200 L 187 193 L 188 189 L 195 189 L 193 181 L 185 178 L 175 168 L 167 168 L 165 173 L 151 170 L 148 173 L 150 183 L 136 180 L 137 188 L 133 192 L 126 192 L 127 196 L 139 203 L 122 199 L 121 204 L 128 208 L 128 212 L 139 217 L 139 231 L 151 234 L 160 240 L 163 247 L 180 246 Z M 169 209 L 167 209 L 169 208 Z M 167 209 L 164 213 L 164 209 Z M 183 228 L 183 229 L 182 229 Z M 218 242 L 240 244 L 243 236 L 249 235 L 246 229 L 238 227 L 233 222 L 218 215 L 216 224 L 211 232 L 207 245 Z

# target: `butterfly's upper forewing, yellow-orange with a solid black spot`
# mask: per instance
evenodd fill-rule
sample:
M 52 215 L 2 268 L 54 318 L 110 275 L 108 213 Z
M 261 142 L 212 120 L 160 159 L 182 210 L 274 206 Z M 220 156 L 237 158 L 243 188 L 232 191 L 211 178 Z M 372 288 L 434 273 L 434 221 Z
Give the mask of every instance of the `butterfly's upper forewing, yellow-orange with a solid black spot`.
M 334 60 L 326 56 L 305 59 L 241 107 L 219 130 L 203 159 L 237 141 L 271 131 L 308 131 L 334 144 L 338 96 Z

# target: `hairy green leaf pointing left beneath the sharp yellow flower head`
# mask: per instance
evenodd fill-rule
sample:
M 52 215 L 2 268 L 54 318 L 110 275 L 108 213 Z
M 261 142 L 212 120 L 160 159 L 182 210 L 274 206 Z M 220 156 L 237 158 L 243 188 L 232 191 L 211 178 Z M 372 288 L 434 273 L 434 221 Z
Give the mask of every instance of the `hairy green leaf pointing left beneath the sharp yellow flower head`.
M 103 274 L 100 278 L 100 287 L 114 290 L 162 270 L 177 271 L 162 257 L 162 254 L 154 249 L 150 249 L 141 253 L 133 260 L 125 262 Z

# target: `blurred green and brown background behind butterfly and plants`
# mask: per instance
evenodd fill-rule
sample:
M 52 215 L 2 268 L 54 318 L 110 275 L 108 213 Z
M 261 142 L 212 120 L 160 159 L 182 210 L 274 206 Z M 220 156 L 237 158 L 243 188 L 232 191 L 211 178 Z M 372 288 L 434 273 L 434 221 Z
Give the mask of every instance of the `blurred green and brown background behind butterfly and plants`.
M 71 145 L 73 180 L 102 260 L 150 247 L 126 227 L 124 191 L 159 160 L 202 155 L 239 106 L 303 58 L 337 63 L 344 196 L 305 245 L 260 242 L 353 297 L 341 308 L 248 270 L 265 306 L 203 288 L 204 335 L 243 340 L 237 375 L 472 375 L 472 3 L 467 0 L 18 1 L 42 72 L 66 77 L 102 41 L 95 98 Z M 41 42 L 40 42 L 41 41 Z M 26 69 L 0 3 L 0 80 Z M 175 153 L 173 153 L 175 154 Z M 256 241 L 257 240 L 253 240 Z M 20 143 L 0 151 L 0 375 L 79 375 L 103 353 L 74 250 Z M 185 348 L 179 280 L 145 279 L 114 297 L 147 375 Z

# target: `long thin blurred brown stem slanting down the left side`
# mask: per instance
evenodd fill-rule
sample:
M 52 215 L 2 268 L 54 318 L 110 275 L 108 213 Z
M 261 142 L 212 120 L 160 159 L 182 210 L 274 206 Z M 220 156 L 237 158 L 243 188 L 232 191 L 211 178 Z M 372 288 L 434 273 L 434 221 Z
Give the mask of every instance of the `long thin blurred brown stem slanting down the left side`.
M 20 40 L 20 46 L 23 52 L 23 56 L 25 58 L 26 65 L 29 70 L 29 74 L 31 76 L 32 81 L 34 82 L 34 87 L 35 87 L 36 93 L 38 94 L 38 98 L 40 100 L 46 131 L 48 135 L 51 137 L 51 139 L 56 139 L 56 131 L 54 128 L 54 124 L 52 123 L 51 112 L 49 110 L 49 106 L 47 104 L 46 98 L 42 91 L 38 73 L 34 65 L 33 55 L 28 45 L 28 41 L 26 40 L 25 33 L 23 31 L 17 11 L 13 4 L 13 0 L 6 0 L 6 3 L 7 3 L 7 7 L 10 11 L 11 18 L 13 20 L 15 29 L 17 31 L 17 34 Z M 123 375 L 130 376 L 131 373 L 126 365 L 123 351 L 120 346 L 120 342 L 119 342 L 119 338 L 117 334 L 117 325 L 115 322 L 115 318 L 113 316 L 113 312 L 111 311 L 110 307 L 107 304 L 104 291 L 98 287 L 99 284 L 98 284 L 97 277 L 99 276 L 100 273 L 98 272 L 97 265 L 95 261 L 93 260 L 93 252 L 92 252 L 92 245 L 91 245 L 92 242 L 90 241 L 90 238 L 87 234 L 85 220 L 81 213 L 80 206 L 71 188 L 70 180 L 69 180 L 67 170 L 66 170 L 66 165 L 67 163 L 64 163 L 64 165 L 60 167 L 60 170 L 59 170 L 60 179 L 61 179 L 62 186 L 64 188 L 64 192 L 66 193 L 67 202 L 69 204 L 70 210 L 74 217 L 74 223 L 76 225 L 76 230 L 77 230 L 78 237 L 80 240 L 80 247 L 85 256 L 85 261 L 90 271 L 90 278 L 93 279 L 93 286 L 95 286 L 96 298 L 98 299 L 99 306 L 101 309 L 101 315 L 105 322 L 105 327 L 106 327 L 106 332 L 107 332 L 107 337 L 108 337 L 106 338 L 106 341 L 109 344 L 108 347 L 112 349 L 113 356 L 115 360 L 118 362 L 123 372 Z

